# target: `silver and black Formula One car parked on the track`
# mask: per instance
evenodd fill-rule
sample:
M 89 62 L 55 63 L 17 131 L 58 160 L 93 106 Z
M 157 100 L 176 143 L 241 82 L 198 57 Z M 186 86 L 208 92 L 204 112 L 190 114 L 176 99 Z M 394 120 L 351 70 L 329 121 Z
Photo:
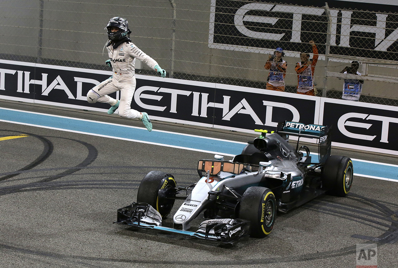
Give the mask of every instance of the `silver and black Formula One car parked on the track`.
M 277 130 L 256 129 L 260 137 L 249 141 L 242 154 L 224 161 L 198 162 L 200 179 L 176 186 L 171 174 L 151 171 L 143 178 L 137 202 L 117 210 L 117 222 L 219 241 L 234 245 L 242 237 L 265 237 L 277 211 L 287 212 L 320 194 L 345 196 L 352 184 L 353 164 L 345 156 L 330 155 L 331 127 L 281 122 Z M 270 133 L 269 133 L 270 132 Z M 289 144 L 297 136 L 297 146 Z M 312 162 L 300 137 L 318 140 L 318 161 Z M 162 226 L 176 199 L 185 200 L 174 214 L 173 228 Z M 203 212 L 197 231 L 191 221 Z

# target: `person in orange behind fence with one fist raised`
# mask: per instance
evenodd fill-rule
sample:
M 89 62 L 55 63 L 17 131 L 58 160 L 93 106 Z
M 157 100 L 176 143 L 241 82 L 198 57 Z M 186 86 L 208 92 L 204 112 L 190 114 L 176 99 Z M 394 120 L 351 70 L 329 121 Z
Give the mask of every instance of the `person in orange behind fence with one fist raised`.
M 300 53 L 301 62 L 296 63 L 297 72 L 297 93 L 309 96 L 315 96 L 314 93 L 314 72 L 318 62 L 318 48 L 314 41 L 309 42 L 312 45 L 312 59 L 307 52 Z

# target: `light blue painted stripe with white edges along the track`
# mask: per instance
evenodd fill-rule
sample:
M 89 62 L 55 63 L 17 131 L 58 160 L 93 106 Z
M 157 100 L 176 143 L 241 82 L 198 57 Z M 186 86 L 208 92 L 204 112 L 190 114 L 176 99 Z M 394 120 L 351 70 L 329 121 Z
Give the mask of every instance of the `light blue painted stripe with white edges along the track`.
M 240 154 L 245 146 L 244 143 L 235 141 L 185 135 L 168 131 L 153 130 L 148 132 L 143 127 L 131 127 L 6 108 L 0 108 L 0 121 L 35 125 L 37 127 L 60 129 L 116 139 L 126 139 L 194 151 L 219 153 L 229 156 Z M 312 158 L 317 159 L 318 156 L 313 155 Z M 354 159 L 353 166 L 355 174 L 398 182 L 398 165 Z

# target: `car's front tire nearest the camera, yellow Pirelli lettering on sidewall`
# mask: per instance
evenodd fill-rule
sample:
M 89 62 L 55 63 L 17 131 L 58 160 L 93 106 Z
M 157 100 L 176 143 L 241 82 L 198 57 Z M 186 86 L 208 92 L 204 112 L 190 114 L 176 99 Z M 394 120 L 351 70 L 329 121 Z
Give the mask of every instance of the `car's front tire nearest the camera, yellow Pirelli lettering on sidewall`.
M 265 187 L 249 187 L 240 201 L 239 218 L 250 221 L 250 236 L 265 237 L 275 223 L 276 200 Z

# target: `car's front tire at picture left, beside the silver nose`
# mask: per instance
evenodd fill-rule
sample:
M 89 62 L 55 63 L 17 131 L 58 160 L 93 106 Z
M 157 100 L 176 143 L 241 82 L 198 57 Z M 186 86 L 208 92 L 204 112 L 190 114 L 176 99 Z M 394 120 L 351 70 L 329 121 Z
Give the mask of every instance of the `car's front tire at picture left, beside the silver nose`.
M 137 202 L 150 204 L 159 211 L 162 217 L 166 217 L 173 208 L 176 180 L 170 174 L 162 171 L 151 171 L 142 179 L 137 193 Z

